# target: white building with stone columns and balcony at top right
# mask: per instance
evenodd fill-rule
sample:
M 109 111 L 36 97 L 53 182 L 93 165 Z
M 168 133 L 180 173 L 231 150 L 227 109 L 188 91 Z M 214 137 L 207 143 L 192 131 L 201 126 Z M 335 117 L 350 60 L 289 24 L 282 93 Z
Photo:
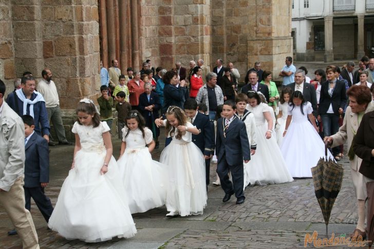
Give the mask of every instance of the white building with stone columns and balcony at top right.
M 374 0 L 292 0 L 297 61 L 361 59 L 373 47 Z

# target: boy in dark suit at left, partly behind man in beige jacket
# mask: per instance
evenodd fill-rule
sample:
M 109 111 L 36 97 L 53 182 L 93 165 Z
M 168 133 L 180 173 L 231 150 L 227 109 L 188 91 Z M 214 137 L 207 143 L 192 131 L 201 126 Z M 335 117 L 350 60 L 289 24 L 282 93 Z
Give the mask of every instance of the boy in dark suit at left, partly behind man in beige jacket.
M 25 124 L 25 207 L 30 210 L 32 197 L 48 223 L 53 212 L 51 201 L 44 194 L 49 182 L 48 142 L 34 132 L 34 119 L 30 115 L 22 116 L 22 120 Z

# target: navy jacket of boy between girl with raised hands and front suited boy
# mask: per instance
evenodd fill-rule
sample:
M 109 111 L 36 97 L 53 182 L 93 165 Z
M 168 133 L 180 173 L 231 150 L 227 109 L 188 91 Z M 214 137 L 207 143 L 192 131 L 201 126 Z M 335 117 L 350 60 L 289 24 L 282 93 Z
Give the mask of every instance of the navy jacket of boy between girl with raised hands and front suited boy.
M 196 128 L 200 129 L 199 135 L 192 134 L 192 142 L 196 144 L 204 156 L 214 154 L 214 126 L 209 120 L 209 116 L 197 112 L 196 118 L 193 122 Z

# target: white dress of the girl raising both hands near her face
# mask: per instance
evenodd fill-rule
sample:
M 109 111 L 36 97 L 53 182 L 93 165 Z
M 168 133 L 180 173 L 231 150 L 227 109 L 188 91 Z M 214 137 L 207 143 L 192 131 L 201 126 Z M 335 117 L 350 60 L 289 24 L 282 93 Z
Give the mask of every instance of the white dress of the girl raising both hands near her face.
M 163 122 L 166 125 L 166 120 Z M 195 127 L 190 122 L 185 126 Z M 191 132 L 186 131 L 181 139 L 177 139 L 175 129 L 175 133 L 170 133 L 172 142 L 160 156 L 160 162 L 169 166 L 166 208 L 180 216 L 201 215 L 207 205 L 204 156 L 192 143 Z

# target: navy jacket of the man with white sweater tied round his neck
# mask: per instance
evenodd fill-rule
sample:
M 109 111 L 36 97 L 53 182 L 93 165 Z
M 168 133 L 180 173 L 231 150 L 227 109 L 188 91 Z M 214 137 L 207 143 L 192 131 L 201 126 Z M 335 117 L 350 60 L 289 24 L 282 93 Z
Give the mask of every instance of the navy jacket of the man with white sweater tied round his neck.
M 34 100 L 36 98 L 36 94 L 32 93 L 31 99 Z M 16 108 L 15 101 L 18 103 L 18 110 Z M 18 115 L 23 115 L 23 102 L 17 97 L 15 92 L 8 94 L 7 104 L 12 108 Z M 26 114 L 30 114 L 30 105 L 27 104 L 27 112 Z M 38 103 L 34 104 L 34 122 L 35 122 L 35 132 L 38 133 L 40 136 L 49 135 L 49 120 L 48 120 L 48 113 L 47 108 L 45 107 L 45 102 L 39 101 Z M 40 123 L 40 125 L 39 125 Z

